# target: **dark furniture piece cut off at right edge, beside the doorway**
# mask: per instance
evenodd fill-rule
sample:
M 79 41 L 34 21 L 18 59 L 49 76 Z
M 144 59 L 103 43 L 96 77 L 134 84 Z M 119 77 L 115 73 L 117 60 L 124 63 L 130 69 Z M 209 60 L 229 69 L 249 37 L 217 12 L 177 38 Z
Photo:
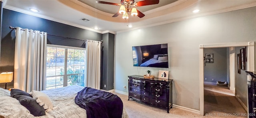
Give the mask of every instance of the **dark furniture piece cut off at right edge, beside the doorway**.
M 251 76 L 250 80 L 247 80 L 248 87 L 248 118 L 256 118 L 256 72 L 245 71 L 247 75 Z

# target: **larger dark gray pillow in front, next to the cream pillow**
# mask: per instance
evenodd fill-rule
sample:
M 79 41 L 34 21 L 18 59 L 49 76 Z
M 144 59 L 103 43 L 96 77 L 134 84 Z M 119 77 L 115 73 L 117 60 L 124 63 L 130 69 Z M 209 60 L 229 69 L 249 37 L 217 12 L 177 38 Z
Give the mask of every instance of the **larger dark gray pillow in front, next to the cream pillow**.
M 34 116 L 45 115 L 44 108 L 36 102 L 36 99 L 26 95 L 16 95 L 14 98 L 19 100 L 20 104 L 30 111 L 30 114 Z

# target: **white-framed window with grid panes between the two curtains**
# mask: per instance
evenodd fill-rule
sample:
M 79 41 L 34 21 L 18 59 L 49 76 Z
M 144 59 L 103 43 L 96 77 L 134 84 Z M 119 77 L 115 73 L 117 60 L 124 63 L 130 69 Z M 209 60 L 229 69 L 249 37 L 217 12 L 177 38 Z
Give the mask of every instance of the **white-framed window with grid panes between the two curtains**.
M 84 86 L 85 53 L 84 48 L 47 45 L 46 90 Z

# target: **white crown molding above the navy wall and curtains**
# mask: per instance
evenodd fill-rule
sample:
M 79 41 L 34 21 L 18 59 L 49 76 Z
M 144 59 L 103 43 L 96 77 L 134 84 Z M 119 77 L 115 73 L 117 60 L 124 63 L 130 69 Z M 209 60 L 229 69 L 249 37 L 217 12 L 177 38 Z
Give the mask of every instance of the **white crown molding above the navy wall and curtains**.
M 30 11 L 27 11 L 27 10 L 22 10 L 20 8 L 16 8 L 16 7 L 13 7 L 13 6 L 5 5 L 4 8 L 8 9 L 8 10 L 13 10 L 13 11 L 16 11 L 16 12 L 20 12 L 20 13 L 23 13 L 23 14 L 28 14 L 28 15 L 31 15 L 31 16 L 36 16 L 36 17 L 39 17 L 39 18 L 44 18 L 44 19 L 47 19 L 47 20 L 59 22 L 59 23 L 62 23 L 62 24 L 67 24 L 67 25 L 74 26 L 74 27 L 77 27 L 77 28 L 82 28 L 84 30 L 90 30 L 90 31 L 94 31 L 94 32 L 97 32 L 97 33 L 102 33 L 102 31 L 94 30 L 93 28 L 88 28 L 88 27 L 81 26 L 81 25 L 78 25 L 78 24 L 73 24 L 73 23 L 70 23 L 70 22 L 63 21 L 63 20 L 58 20 L 56 18 L 52 18 L 52 17 L 49 17 L 49 16 L 36 14 L 34 12 L 30 12 Z M 14 26 L 14 27 L 16 27 L 16 26 Z

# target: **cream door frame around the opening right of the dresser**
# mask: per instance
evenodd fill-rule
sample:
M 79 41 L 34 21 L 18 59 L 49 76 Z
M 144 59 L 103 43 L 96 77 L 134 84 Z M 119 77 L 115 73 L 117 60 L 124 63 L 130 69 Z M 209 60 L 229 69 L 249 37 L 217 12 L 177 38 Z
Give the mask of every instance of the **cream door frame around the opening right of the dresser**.
M 199 98 L 200 98 L 200 115 L 204 116 L 204 48 L 218 47 L 248 47 L 247 53 L 247 71 L 254 71 L 254 41 L 241 43 L 220 43 L 199 45 Z M 247 79 L 250 77 L 247 76 Z

